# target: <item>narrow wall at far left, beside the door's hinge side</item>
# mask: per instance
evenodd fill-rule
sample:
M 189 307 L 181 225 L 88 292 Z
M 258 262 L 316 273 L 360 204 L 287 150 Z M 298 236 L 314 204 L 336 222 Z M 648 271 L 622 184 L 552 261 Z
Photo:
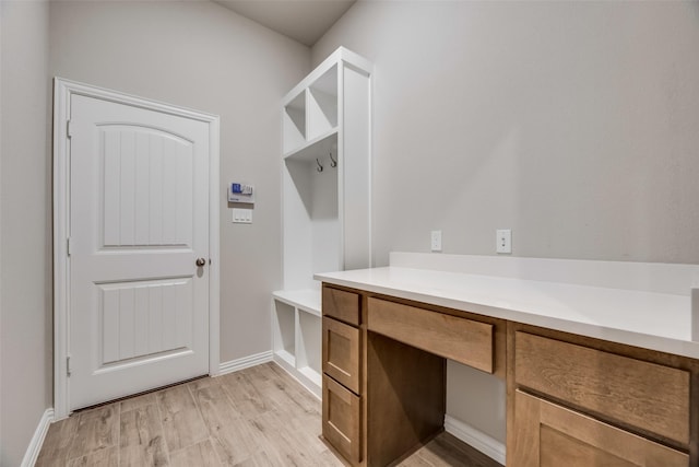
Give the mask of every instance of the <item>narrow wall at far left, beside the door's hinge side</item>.
M 48 3 L 0 2 L 0 466 L 52 406 Z

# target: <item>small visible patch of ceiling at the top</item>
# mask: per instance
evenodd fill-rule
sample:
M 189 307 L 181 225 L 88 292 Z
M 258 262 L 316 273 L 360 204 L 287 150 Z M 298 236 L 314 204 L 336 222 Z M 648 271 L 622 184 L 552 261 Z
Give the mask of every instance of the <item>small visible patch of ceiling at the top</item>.
M 356 0 L 214 1 L 310 47 Z

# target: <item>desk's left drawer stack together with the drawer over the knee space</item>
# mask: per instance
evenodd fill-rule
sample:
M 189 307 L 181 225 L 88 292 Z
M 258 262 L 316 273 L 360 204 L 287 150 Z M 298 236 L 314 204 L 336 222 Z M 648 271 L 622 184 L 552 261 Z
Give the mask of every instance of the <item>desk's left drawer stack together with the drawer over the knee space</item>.
M 353 466 L 390 465 L 443 430 L 447 358 L 493 373 L 496 335 L 505 349 L 494 319 L 337 287 L 322 297 L 323 439 Z

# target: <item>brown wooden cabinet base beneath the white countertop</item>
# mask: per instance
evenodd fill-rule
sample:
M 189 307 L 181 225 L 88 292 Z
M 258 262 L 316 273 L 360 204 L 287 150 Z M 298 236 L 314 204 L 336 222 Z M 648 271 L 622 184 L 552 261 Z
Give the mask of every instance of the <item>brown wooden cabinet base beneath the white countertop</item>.
M 699 361 L 323 284 L 323 437 L 386 466 L 443 429 L 446 359 L 505 377 L 513 467 L 699 467 Z

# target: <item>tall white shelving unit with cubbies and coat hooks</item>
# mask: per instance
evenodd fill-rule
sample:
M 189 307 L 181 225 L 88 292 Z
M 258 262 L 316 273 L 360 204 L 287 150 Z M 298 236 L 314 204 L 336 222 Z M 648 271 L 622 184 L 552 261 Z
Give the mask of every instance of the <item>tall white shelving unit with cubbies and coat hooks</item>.
M 319 397 L 321 299 L 313 275 L 371 265 L 371 69 L 340 47 L 283 103 L 284 289 L 273 293 L 273 352 Z

